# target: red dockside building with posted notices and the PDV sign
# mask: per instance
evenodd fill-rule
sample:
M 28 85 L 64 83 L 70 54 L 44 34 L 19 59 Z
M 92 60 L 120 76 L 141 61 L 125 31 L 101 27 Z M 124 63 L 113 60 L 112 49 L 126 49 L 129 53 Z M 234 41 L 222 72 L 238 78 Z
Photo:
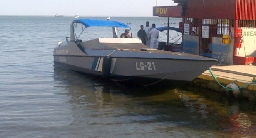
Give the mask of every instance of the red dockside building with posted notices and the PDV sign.
M 196 45 L 194 54 L 216 58 L 224 65 L 256 64 L 256 0 L 173 1 L 181 7 L 174 13 L 181 13 L 182 42 Z M 174 17 L 161 9 L 153 13 Z

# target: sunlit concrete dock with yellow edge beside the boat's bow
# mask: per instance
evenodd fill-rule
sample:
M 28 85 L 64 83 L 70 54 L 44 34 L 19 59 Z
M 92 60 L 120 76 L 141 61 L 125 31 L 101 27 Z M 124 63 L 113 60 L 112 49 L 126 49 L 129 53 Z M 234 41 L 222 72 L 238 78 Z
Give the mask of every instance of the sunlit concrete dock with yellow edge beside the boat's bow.
M 256 100 L 256 65 L 214 65 L 210 69 L 199 75 L 193 81 L 194 85 L 224 92 L 236 98 Z

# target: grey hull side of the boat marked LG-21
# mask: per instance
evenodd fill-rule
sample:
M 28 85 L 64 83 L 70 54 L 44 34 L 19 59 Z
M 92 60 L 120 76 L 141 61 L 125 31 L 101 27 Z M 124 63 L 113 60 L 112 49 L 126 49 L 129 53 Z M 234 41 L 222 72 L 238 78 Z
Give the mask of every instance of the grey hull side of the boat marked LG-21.
M 98 75 L 115 81 L 140 78 L 156 82 L 162 80 L 192 81 L 211 67 L 214 61 L 61 55 L 54 56 L 54 63 L 58 67 Z

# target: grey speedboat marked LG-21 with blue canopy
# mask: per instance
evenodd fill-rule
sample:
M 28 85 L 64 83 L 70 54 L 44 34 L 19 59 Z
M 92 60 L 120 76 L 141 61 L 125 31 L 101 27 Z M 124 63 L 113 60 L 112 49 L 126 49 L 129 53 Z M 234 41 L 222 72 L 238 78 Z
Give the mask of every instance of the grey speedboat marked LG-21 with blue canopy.
M 89 27 L 108 27 L 113 37 L 81 40 L 81 33 Z M 80 35 L 77 28 L 81 28 Z M 138 38 L 118 38 L 119 28 L 131 29 L 112 20 L 72 21 L 70 37 L 54 48 L 55 67 L 150 86 L 163 81 L 192 81 L 217 62 L 199 55 L 151 49 Z

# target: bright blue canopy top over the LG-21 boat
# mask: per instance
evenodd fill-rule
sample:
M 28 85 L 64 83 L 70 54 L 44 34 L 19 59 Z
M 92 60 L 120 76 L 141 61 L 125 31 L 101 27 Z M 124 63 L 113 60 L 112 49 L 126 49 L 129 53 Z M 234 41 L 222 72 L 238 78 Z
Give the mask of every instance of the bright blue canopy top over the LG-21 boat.
M 128 25 L 110 20 L 91 20 L 91 19 L 79 19 L 77 23 L 82 23 L 85 27 L 124 27 L 130 28 Z

